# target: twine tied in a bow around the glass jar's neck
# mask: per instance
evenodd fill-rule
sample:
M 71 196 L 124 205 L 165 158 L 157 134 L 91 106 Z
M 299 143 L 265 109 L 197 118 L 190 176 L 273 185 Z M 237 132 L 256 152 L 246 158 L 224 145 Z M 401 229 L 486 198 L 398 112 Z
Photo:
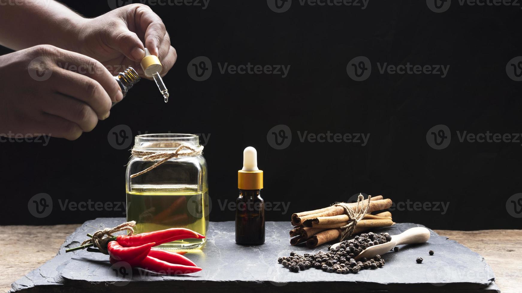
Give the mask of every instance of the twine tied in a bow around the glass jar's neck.
M 141 158 L 144 161 L 155 161 L 159 159 L 159 161 L 151 165 L 149 168 L 138 173 L 132 174 L 131 178 L 134 178 L 136 176 L 149 172 L 150 170 L 158 167 L 162 163 L 167 162 L 172 158 L 201 155 L 203 154 L 203 146 L 190 147 L 187 145 L 179 145 L 177 146 L 175 151 L 143 151 L 133 148 L 131 153 L 133 156 Z

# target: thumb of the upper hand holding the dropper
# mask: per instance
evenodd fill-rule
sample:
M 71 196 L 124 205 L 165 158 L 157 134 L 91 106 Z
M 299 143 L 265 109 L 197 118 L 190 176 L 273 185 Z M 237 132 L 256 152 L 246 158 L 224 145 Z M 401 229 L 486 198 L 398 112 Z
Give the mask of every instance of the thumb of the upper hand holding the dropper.
M 109 45 L 133 61 L 139 62 L 145 56 L 144 46 L 138 35 L 129 31 L 126 26 L 120 26 L 112 32 Z

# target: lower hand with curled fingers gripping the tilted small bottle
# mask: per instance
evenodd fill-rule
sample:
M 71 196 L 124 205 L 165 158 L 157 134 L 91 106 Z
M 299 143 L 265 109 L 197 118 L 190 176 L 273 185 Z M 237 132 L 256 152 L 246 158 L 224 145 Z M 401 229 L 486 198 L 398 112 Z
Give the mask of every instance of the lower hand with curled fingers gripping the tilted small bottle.
M 0 56 L 0 80 L 0 134 L 74 140 L 109 117 L 112 102 L 123 99 L 99 61 L 51 45 Z

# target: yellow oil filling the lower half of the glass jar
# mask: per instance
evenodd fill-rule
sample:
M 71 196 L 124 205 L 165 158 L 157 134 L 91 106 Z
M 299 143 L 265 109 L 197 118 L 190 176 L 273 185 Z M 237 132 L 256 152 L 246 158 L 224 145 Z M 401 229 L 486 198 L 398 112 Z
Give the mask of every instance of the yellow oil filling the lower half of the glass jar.
M 127 221 L 136 221 L 136 233 L 187 228 L 202 235 L 208 227 L 208 189 L 192 186 L 133 185 L 127 191 Z M 158 246 L 169 250 L 198 249 L 204 239 L 183 239 Z

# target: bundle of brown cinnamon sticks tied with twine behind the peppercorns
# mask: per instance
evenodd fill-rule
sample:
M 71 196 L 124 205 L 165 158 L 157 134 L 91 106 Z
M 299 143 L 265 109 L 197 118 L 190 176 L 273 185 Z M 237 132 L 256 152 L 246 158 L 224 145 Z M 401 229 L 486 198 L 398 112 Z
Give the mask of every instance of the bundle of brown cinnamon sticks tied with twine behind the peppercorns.
M 365 199 L 359 203 L 369 208 L 364 218 L 357 223 L 352 234 L 358 234 L 363 231 L 376 227 L 387 227 L 395 224 L 392 220 L 392 213 L 381 212 L 371 214 L 371 212 L 388 209 L 392 206 L 392 200 L 383 199 L 382 195 Z M 357 202 L 348 204 L 353 209 L 357 208 Z M 341 236 L 341 227 L 347 225 L 351 221 L 346 214 L 346 210 L 340 206 L 331 206 L 324 209 L 292 214 L 292 225 L 294 228 L 290 230 L 291 245 L 298 245 L 306 242 L 306 246 L 314 248 L 329 241 L 338 239 Z

